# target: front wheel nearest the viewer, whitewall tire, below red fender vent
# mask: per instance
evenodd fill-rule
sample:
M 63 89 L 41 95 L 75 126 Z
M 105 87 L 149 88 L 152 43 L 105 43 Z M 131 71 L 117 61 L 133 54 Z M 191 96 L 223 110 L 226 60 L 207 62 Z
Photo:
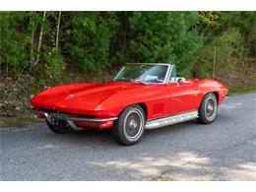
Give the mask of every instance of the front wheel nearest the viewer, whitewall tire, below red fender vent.
M 113 126 L 113 136 L 117 143 L 130 146 L 139 142 L 144 134 L 146 117 L 143 108 L 138 105 L 126 107 Z

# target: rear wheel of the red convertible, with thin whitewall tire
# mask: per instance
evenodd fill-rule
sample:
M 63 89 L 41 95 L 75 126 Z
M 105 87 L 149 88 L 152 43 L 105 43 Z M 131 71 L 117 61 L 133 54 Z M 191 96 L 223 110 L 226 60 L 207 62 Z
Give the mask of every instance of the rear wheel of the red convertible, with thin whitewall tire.
M 214 122 L 218 113 L 218 100 L 215 94 L 209 93 L 204 96 L 198 110 L 198 121 L 203 124 Z

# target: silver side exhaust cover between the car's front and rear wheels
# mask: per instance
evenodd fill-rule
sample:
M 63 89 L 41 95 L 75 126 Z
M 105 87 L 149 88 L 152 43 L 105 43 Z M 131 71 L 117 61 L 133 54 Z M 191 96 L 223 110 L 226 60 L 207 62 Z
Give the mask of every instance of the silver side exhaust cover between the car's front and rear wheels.
M 157 120 L 148 121 L 145 126 L 145 129 L 156 129 L 156 128 L 180 123 L 183 121 L 196 119 L 197 117 L 198 117 L 197 110 L 185 112 L 182 114 L 176 114 L 176 115 L 172 115 L 172 116 L 168 116 L 168 117 L 163 117 L 163 118 L 160 118 Z

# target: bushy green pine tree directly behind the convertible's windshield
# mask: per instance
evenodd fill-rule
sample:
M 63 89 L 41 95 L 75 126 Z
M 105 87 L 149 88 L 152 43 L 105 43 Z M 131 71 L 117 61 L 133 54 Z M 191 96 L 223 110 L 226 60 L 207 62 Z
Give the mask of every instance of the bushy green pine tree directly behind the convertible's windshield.
M 127 46 L 117 51 L 117 58 L 174 63 L 181 74 L 190 74 L 191 56 L 202 44 L 202 38 L 192 31 L 198 22 L 196 12 L 134 12 L 128 22 Z

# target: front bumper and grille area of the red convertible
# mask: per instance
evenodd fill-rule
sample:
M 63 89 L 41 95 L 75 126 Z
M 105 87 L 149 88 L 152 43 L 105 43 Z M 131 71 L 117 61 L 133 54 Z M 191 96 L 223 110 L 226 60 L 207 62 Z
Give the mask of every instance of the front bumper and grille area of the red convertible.
M 68 123 L 73 129 L 80 129 L 79 127 L 90 127 L 90 128 L 111 128 L 114 121 L 118 117 L 99 118 L 99 117 L 88 117 L 85 115 L 76 115 L 63 113 L 59 111 L 47 111 L 47 110 L 35 110 L 37 117 L 46 118 L 51 124 L 55 124 L 58 120 L 63 120 Z

